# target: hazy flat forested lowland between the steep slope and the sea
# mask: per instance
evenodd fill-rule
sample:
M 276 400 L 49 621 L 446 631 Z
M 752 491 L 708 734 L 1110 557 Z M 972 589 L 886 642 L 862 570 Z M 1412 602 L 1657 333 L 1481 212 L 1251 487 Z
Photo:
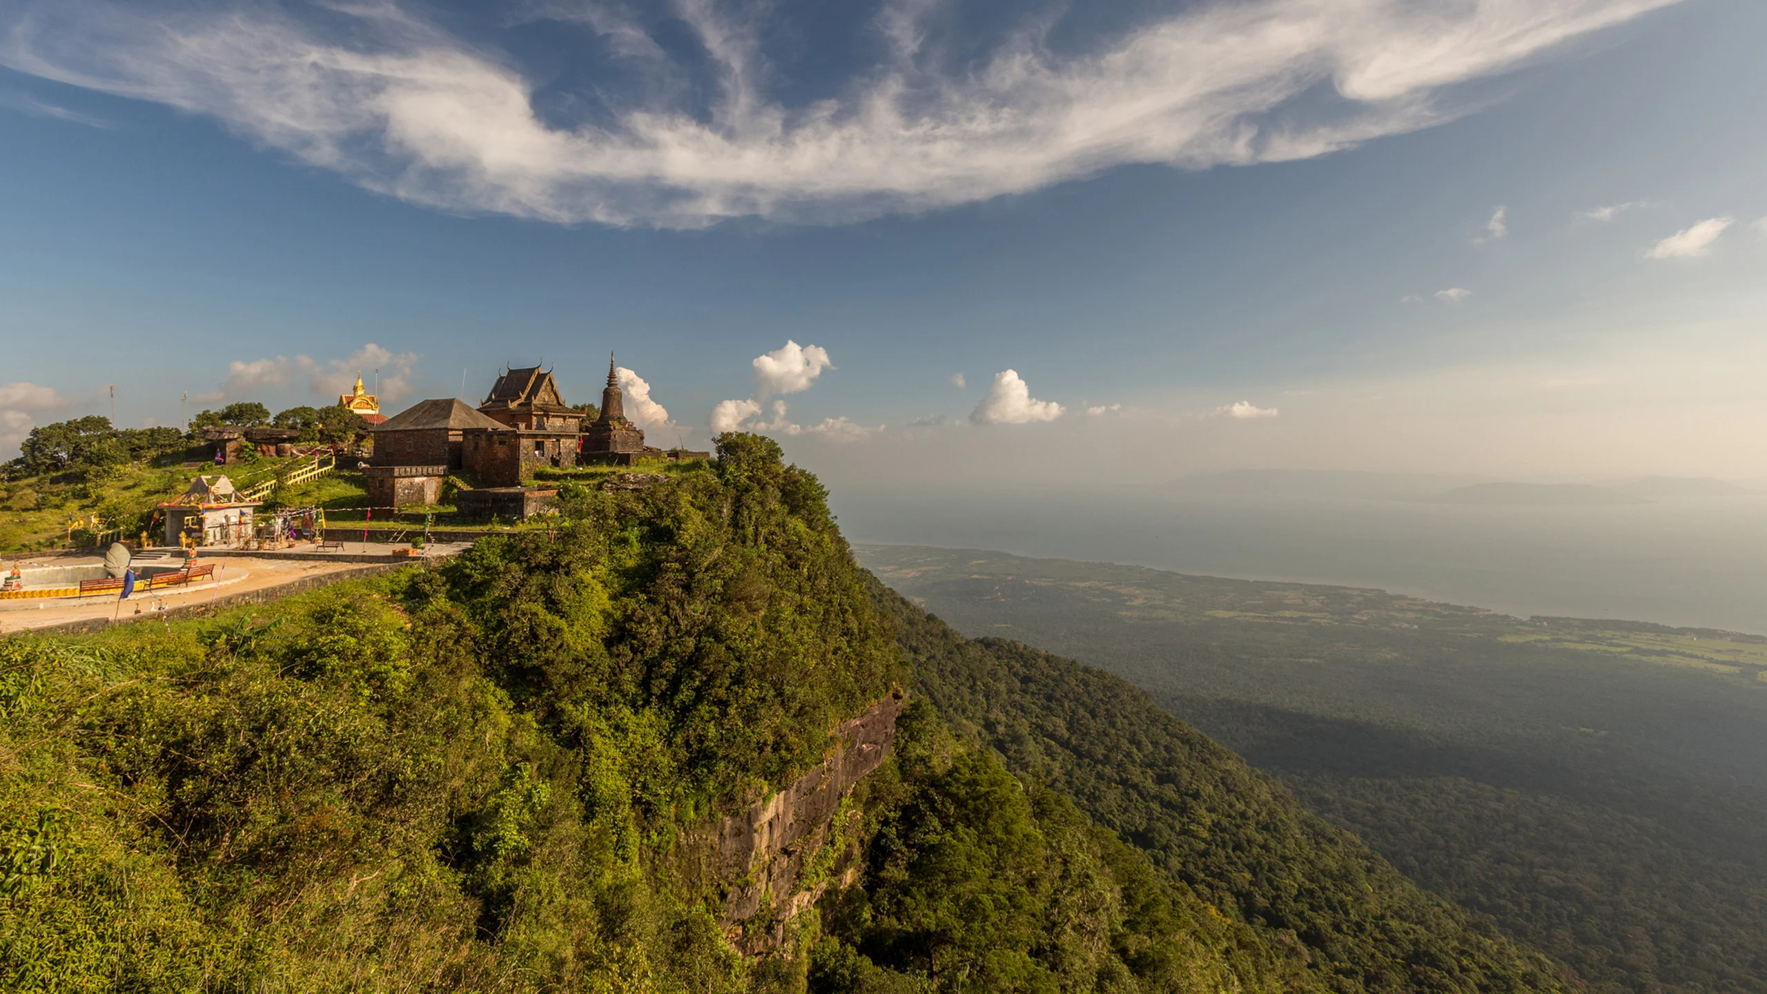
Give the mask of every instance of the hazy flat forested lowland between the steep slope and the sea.
M 981 550 L 861 554 L 967 633 L 1145 688 L 1597 990 L 1767 990 L 1760 635 Z

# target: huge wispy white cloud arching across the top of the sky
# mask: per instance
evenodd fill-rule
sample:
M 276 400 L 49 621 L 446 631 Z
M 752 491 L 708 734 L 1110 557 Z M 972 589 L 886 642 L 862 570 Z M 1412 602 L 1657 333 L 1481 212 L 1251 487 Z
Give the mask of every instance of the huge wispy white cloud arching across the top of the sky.
M 1043 14 L 968 37 L 940 4 L 887 0 L 861 28 L 880 57 L 813 81 L 781 78 L 767 44 L 800 34 L 772 21 L 790 5 L 553 5 L 530 18 L 587 25 L 606 51 L 558 92 L 553 62 L 525 71 L 413 5 L 18 0 L 0 64 L 216 117 L 413 203 L 703 226 L 1322 156 L 1449 120 L 1445 88 L 1677 2 L 1203 0 L 1057 46 Z

